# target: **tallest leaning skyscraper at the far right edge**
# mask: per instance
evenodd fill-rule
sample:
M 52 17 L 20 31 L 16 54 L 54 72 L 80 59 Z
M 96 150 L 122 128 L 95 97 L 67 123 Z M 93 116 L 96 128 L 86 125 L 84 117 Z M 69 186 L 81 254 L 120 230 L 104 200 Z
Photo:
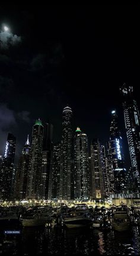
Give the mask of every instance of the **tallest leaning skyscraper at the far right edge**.
M 133 87 L 123 84 L 122 93 L 123 110 L 126 134 L 128 137 L 129 153 L 131 156 L 132 174 L 135 189 L 140 190 L 140 118 L 136 101 L 133 99 Z

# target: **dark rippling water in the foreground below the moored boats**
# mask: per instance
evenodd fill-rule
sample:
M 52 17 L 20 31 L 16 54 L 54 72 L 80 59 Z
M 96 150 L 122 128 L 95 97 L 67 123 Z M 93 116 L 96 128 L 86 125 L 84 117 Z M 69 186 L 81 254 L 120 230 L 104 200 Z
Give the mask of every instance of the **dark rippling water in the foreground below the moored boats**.
M 139 255 L 139 232 L 26 228 L 17 239 L 1 236 L 0 255 Z

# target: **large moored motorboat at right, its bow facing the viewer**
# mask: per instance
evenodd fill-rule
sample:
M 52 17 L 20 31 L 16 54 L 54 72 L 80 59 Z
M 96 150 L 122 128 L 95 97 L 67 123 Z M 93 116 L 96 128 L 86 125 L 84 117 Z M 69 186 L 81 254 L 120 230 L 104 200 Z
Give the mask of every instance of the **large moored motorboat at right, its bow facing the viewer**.
M 112 221 L 112 227 L 116 231 L 126 231 L 130 228 L 130 219 L 128 215 L 128 208 L 125 206 L 117 206 L 116 212 Z

